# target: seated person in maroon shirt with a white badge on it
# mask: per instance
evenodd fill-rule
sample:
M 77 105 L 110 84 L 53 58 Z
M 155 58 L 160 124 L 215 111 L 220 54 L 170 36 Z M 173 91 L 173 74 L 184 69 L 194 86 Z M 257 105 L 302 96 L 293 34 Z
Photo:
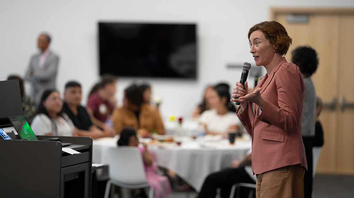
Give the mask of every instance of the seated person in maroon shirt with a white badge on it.
M 114 131 L 106 120 L 110 118 L 116 105 L 114 94 L 116 92 L 117 78 L 110 74 L 104 74 L 97 85 L 97 91 L 89 96 L 86 110 L 96 126 L 104 131 Z

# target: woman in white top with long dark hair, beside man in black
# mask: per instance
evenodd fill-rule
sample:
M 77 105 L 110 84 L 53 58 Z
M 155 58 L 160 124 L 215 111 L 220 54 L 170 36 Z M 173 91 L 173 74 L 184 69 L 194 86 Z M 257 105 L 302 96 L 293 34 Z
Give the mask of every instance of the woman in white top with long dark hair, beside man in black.
M 62 112 L 62 107 L 63 101 L 58 91 L 45 91 L 31 124 L 33 132 L 36 135 L 73 136 L 75 126 L 68 115 Z

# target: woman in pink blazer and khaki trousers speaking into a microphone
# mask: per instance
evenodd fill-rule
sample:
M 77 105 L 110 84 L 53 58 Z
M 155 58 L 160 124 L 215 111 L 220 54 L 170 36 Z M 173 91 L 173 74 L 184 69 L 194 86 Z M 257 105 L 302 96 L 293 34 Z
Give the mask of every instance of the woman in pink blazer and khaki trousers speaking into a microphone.
M 275 21 L 254 25 L 249 33 L 250 53 L 267 73 L 252 93 L 237 82 L 231 101 L 252 136 L 252 169 L 257 176 L 257 198 L 304 197 L 307 168 L 301 137 L 304 82 L 299 68 L 283 57 L 292 39 Z M 239 97 L 238 99 L 235 99 Z

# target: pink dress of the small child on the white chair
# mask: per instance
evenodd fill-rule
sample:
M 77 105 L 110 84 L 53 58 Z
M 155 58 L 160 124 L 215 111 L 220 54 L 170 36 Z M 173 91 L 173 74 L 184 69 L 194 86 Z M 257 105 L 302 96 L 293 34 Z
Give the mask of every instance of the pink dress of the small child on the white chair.
M 138 147 L 141 155 L 143 155 L 144 148 Z M 153 157 L 153 164 L 151 166 L 147 166 L 144 162 L 145 167 L 145 176 L 146 180 L 154 190 L 154 198 L 167 198 L 171 193 L 171 185 L 169 179 L 166 176 L 161 176 L 157 174 L 157 163 L 155 161 L 155 156 L 151 154 Z

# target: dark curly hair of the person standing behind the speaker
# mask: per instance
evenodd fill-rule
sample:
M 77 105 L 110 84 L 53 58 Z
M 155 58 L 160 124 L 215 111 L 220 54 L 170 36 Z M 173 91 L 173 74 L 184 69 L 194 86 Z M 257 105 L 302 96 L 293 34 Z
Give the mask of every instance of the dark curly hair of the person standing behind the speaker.
M 314 49 L 308 46 L 297 47 L 291 52 L 291 62 L 297 65 L 305 76 L 312 76 L 317 70 L 318 58 Z

